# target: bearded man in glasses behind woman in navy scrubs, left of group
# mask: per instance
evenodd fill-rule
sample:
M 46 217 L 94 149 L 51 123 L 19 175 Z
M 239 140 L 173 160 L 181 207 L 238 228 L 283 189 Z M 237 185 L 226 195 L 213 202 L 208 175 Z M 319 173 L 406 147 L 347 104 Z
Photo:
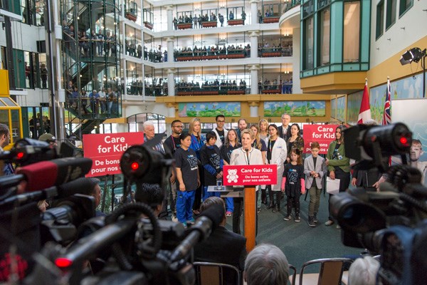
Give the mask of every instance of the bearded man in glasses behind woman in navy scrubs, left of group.
M 181 139 L 179 139 L 179 135 L 181 135 L 184 125 L 180 120 L 174 120 L 171 124 L 171 128 L 172 128 L 172 135 L 169 135 L 169 137 L 166 140 L 164 140 L 163 145 L 164 145 L 164 149 L 165 150 L 169 149 L 172 152 L 172 156 L 173 156 L 175 153 L 175 150 L 181 147 Z M 172 211 L 172 221 L 177 222 L 178 219 L 176 219 L 175 180 L 176 180 L 175 172 L 172 171 L 172 175 L 169 179 L 169 181 L 171 182 L 170 184 L 171 195 L 169 195 L 169 204 L 171 206 L 171 211 Z

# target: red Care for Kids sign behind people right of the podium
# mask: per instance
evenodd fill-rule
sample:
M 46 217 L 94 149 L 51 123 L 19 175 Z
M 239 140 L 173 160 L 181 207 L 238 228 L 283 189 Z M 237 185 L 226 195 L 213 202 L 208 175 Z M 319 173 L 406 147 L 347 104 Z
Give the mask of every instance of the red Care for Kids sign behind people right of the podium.
M 319 142 L 320 154 L 327 154 L 332 140 L 335 140 L 335 129 L 339 125 L 304 125 L 304 152 L 310 153 L 312 142 Z

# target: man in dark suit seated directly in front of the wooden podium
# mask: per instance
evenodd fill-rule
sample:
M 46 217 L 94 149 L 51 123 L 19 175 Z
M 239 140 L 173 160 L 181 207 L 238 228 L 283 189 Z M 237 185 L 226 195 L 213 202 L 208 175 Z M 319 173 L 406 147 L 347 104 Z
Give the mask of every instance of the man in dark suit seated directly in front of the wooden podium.
M 223 207 L 223 219 L 206 241 L 194 247 L 194 261 L 217 262 L 236 266 L 243 270 L 246 259 L 246 237 L 235 234 L 226 229 L 226 205 L 219 197 L 209 197 L 200 206 L 201 212 L 209 209 L 214 204 Z M 224 284 L 236 284 L 233 271 L 224 270 Z

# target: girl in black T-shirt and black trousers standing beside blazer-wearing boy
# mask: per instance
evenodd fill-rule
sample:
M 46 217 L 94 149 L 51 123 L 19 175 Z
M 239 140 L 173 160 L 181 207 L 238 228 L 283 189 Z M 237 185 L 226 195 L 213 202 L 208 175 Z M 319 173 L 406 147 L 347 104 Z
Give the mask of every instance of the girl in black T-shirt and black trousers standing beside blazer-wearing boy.
M 304 167 L 302 166 L 301 151 L 297 148 L 290 150 L 290 162 L 285 165 L 283 170 L 283 180 L 281 185 L 282 192 L 288 197 L 288 214 L 285 221 L 291 219 L 292 204 L 295 208 L 295 222 L 301 222 L 300 219 L 300 195 L 305 194 Z

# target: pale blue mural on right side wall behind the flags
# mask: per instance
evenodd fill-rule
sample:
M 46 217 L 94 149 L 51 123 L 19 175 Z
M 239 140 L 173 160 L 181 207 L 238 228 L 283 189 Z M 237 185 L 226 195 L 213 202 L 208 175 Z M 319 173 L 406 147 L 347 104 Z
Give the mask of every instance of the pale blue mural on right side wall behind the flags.
M 386 100 L 387 83 L 371 88 L 369 91 L 369 103 L 371 105 L 372 119 L 379 124 L 382 122 L 384 102 Z M 423 98 L 423 75 L 407 77 L 390 83 L 391 102 L 393 99 Z M 362 100 L 362 98 L 360 99 Z M 359 103 L 360 104 L 360 103 Z M 391 118 L 393 109 L 391 108 Z

